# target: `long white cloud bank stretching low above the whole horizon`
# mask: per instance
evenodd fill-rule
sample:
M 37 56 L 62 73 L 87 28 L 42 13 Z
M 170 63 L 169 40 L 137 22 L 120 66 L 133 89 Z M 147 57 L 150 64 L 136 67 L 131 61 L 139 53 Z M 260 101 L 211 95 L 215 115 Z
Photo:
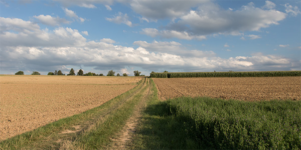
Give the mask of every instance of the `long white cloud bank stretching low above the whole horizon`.
M 39 25 L 19 18 L 0 19 L 1 70 L 47 72 L 68 65 L 122 72 L 128 66 L 149 71 L 163 67 L 183 71 L 289 70 L 300 65 L 283 56 L 262 53 L 221 58 L 213 51 L 187 49 L 176 41 L 135 41 L 137 48 L 113 44 L 109 38 L 87 41 L 77 29 L 40 29 Z

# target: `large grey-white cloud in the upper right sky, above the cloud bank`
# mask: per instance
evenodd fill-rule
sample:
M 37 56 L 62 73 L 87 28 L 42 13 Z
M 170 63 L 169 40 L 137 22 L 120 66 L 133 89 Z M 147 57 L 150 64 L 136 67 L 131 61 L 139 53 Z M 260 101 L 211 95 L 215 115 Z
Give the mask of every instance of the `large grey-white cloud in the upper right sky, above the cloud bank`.
M 272 5 L 267 1 L 264 7 L 271 8 Z M 195 10 L 190 9 L 186 13 L 179 14 L 179 19 L 165 26 L 165 29 L 144 28 L 141 33 L 153 37 L 180 39 L 195 39 L 200 36 L 203 36 L 201 39 L 204 39 L 206 35 L 210 34 L 241 35 L 245 31 L 259 31 L 260 28 L 278 24 L 278 21 L 283 20 L 285 16 L 286 13 L 275 9 L 265 10 L 255 7 L 253 2 L 234 11 L 223 9 L 209 1 L 199 3 Z M 256 37 L 254 36 L 254 38 Z

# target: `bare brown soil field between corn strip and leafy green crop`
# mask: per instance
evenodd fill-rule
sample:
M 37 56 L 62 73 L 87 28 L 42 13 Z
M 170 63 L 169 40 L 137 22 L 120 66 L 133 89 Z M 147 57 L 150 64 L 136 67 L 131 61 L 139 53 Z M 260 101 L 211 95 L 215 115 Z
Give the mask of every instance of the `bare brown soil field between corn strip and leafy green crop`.
M 301 77 L 153 78 L 161 99 L 209 96 L 240 100 L 301 100 Z

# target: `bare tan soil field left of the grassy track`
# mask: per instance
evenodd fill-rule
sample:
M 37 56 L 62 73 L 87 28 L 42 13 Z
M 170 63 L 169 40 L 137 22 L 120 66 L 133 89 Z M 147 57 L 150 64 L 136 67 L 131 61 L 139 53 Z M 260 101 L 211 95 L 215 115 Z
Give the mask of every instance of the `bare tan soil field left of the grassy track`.
M 136 86 L 140 77 L 0 76 L 0 140 L 81 113 Z

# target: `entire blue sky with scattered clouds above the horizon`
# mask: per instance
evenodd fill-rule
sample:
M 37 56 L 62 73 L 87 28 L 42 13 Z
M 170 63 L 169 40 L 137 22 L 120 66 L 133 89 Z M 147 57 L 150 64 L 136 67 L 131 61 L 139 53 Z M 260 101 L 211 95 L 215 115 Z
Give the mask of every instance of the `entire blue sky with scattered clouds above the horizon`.
M 301 70 L 300 0 L 0 2 L 0 74 Z

